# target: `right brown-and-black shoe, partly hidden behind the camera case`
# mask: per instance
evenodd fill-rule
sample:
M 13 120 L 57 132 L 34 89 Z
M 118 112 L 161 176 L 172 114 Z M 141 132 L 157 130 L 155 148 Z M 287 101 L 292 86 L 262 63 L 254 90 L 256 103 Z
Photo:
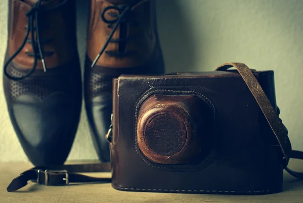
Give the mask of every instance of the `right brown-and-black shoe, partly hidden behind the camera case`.
M 155 0 L 91 0 L 85 63 L 85 107 L 99 159 L 110 161 L 112 79 L 162 74 Z

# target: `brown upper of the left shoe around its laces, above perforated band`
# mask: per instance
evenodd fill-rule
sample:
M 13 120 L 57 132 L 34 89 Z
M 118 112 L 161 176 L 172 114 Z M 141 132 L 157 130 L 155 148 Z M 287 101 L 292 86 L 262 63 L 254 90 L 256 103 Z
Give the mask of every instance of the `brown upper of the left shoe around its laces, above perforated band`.
M 8 54 L 13 55 L 21 45 L 26 34 L 27 18 L 26 13 L 33 7 L 36 1 L 20 1 L 10 0 L 10 27 L 8 40 Z M 54 7 L 60 3 L 59 0 L 51 0 L 42 3 L 43 8 Z M 65 7 L 53 11 L 39 13 L 39 28 L 41 40 L 46 40 L 43 43 L 42 49 L 44 52 L 52 52 L 51 55 L 45 55 L 45 63 L 47 68 L 66 65 L 74 56 L 75 50 L 74 41 L 70 36 L 72 30 L 70 28 L 69 17 L 66 16 Z M 35 25 L 34 25 L 35 26 Z M 36 33 L 35 33 L 36 34 Z M 31 33 L 28 39 L 31 39 Z M 33 52 L 32 44 L 26 43 L 22 51 L 14 58 L 13 64 L 22 69 L 31 69 L 34 57 L 28 56 L 26 52 Z M 37 62 L 37 70 L 43 69 L 40 60 Z

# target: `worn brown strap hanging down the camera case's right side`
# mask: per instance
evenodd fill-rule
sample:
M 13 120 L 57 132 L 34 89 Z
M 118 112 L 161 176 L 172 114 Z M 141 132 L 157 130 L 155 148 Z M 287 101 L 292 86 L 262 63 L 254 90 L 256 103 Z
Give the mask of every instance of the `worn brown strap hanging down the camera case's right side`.
M 287 168 L 289 159 L 303 159 L 303 152 L 291 149 L 290 140 L 287 136 L 288 131 L 276 113 L 275 109 L 271 105 L 260 83 L 251 72 L 249 67 L 247 67 L 247 65 L 244 63 L 224 63 L 217 67 L 216 71 L 227 71 L 231 67 L 235 67 L 237 69 L 247 87 L 249 88 L 251 94 L 255 97 L 266 120 L 268 121 L 268 124 L 273 130 L 283 153 L 283 167 L 289 174 L 293 175 L 296 178 L 303 179 L 303 173 L 295 172 Z

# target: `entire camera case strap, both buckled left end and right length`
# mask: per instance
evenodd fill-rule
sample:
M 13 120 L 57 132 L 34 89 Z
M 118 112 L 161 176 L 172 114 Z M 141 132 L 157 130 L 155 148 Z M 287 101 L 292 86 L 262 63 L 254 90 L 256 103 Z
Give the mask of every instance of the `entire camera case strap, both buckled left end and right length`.
M 217 67 L 216 71 L 227 71 L 231 67 L 235 67 L 252 95 L 255 97 L 259 104 L 265 118 L 267 119 L 271 129 L 273 130 L 276 139 L 281 147 L 282 164 L 284 169 L 296 178 L 303 179 L 303 173 L 295 172 L 287 168 L 290 158 L 303 159 L 303 152 L 291 149 L 290 140 L 287 136 L 288 131 L 282 120 L 279 118 L 276 110 L 268 100 L 264 90 L 256 79 L 252 70 L 249 69 L 244 63 L 224 63 Z M 100 178 L 83 175 L 80 173 L 87 172 L 110 172 L 110 163 L 96 163 L 96 164 L 69 164 L 61 166 L 46 166 L 34 167 L 21 173 L 20 176 L 13 179 L 7 187 L 9 192 L 16 191 L 25 185 L 29 180 L 38 184 L 45 185 L 68 185 L 69 183 L 81 182 L 111 182 L 111 178 Z

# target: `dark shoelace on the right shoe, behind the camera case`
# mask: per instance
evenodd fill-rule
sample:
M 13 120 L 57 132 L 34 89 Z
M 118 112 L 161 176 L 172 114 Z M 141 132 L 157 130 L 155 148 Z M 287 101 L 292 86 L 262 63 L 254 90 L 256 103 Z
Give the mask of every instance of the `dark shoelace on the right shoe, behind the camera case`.
M 105 17 L 105 14 L 107 11 L 109 10 L 116 10 L 118 11 L 120 14 L 116 14 L 116 13 L 113 13 L 113 12 L 109 12 L 109 15 L 113 18 L 116 18 L 116 19 L 113 19 L 113 20 L 108 20 L 106 19 Z M 131 17 L 132 16 L 132 11 L 131 11 L 131 6 L 124 6 L 124 5 L 121 5 L 121 6 L 108 6 L 106 7 L 102 13 L 101 13 L 101 18 L 102 20 L 108 24 L 108 28 L 112 28 L 113 25 L 115 25 L 113 27 L 113 30 L 112 32 L 110 33 L 108 39 L 106 40 L 103 48 L 100 50 L 100 52 L 98 53 L 98 55 L 96 56 L 96 58 L 94 59 L 94 61 L 92 62 L 91 64 L 91 67 L 95 66 L 96 62 L 98 61 L 98 59 L 100 58 L 100 56 L 106 52 L 107 54 L 109 54 L 110 56 L 118 56 L 118 57 L 123 57 L 123 56 L 126 56 L 126 55 L 131 55 L 133 53 L 135 53 L 135 51 L 128 51 L 128 52 L 114 52 L 114 51 L 105 51 L 105 49 L 107 48 L 107 46 L 109 45 L 110 42 L 121 42 L 121 41 L 124 41 L 126 42 L 128 39 L 127 38 L 120 38 L 120 39 L 112 39 L 113 38 L 113 35 L 114 33 L 116 32 L 117 28 L 119 27 L 119 25 L 121 25 L 122 23 L 124 22 L 130 22 L 131 19 L 128 19 L 127 17 Z M 135 22 L 133 22 L 135 26 L 138 26 Z

